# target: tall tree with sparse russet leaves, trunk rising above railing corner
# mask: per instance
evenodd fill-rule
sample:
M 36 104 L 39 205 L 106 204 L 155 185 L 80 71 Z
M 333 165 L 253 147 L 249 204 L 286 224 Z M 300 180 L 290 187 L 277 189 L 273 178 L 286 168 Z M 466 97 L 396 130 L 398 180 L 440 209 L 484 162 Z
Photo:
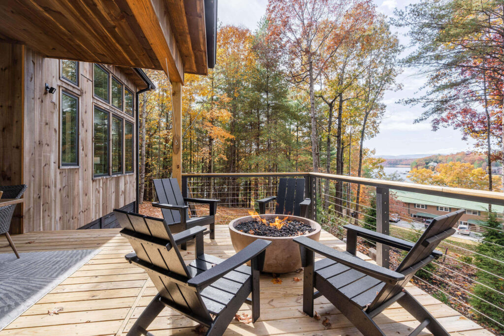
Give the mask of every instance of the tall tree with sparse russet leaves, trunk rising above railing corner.
M 327 62 L 338 50 L 334 35 L 353 2 L 342 0 L 270 0 L 267 18 L 270 34 L 284 51 L 291 80 L 305 88 L 309 97 L 313 171 L 320 168 L 315 85 Z M 329 52 L 325 52 L 328 51 Z

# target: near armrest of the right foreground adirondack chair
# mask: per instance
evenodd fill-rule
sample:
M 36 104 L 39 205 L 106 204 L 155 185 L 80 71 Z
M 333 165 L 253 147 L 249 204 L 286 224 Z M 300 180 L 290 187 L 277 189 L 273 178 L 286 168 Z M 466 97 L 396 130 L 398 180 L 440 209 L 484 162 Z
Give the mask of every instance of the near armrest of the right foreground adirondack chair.
M 367 262 L 349 253 L 337 251 L 308 237 L 296 237 L 294 241 L 300 245 L 301 255 L 304 254 L 304 248 L 389 284 L 404 280 L 404 275 L 401 273 Z

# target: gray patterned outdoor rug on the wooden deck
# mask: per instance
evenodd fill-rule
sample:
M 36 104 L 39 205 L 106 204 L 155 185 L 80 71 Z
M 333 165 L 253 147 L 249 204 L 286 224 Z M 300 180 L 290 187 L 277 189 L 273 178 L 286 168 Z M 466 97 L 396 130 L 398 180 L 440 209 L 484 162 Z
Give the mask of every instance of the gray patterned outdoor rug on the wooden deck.
M 0 330 L 99 251 L 0 253 Z

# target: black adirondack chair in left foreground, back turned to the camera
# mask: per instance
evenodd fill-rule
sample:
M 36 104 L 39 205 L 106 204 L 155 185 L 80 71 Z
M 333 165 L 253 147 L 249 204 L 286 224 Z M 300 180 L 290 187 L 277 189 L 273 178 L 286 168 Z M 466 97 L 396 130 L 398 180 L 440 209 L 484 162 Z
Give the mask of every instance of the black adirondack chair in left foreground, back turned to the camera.
M 270 241 L 258 239 L 224 260 L 204 253 L 204 227 L 172 234 L 166 220 L 121 210 L 114 214 L 120 234 L 136 252 L 125 258 L 144 268 L 159 292 L 128 335 L 152 335 L 146 329 L 164 307 L 207 326 L 207 335 L 221 335 L 243 302 L 252 306 L 253 321 L 259 318 L 259 272 Z M 191 239 L 196 240 L 196 258 L 186 266 L 177 245 Z M 248 260 L 251 267 L 244 265 Z

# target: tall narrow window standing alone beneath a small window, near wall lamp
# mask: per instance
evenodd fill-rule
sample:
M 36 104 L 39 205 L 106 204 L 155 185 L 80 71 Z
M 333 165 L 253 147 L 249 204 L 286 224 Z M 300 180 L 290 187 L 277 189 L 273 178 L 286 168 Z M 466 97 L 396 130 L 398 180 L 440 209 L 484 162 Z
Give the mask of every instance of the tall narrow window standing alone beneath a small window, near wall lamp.
M 79 98 L 61 91 L 61 165 L 79 165 Z

